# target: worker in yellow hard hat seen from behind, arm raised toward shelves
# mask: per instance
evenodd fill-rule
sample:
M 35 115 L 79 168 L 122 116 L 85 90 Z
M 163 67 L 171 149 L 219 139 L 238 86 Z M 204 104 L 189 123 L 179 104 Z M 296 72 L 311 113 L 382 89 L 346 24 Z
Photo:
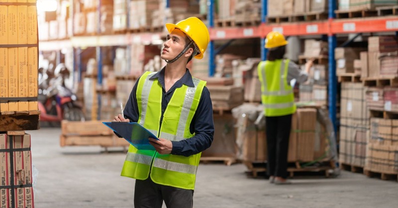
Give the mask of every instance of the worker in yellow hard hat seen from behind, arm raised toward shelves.
M 266 37 L 265 48 L 269 50 L 267 61 L 260 62 L 258 74 L 261 82 L 261 101 L 266 117 L 267 173 L 270 183 L 290 184 L 287 181 L 288 147 L 292 115 L 296 112 L 292 79 L 302 83 L 307 80 L 312 61 L 305 65 L 305 71 L 290 60 L 284 59 L 285 37 L 272 31 Z

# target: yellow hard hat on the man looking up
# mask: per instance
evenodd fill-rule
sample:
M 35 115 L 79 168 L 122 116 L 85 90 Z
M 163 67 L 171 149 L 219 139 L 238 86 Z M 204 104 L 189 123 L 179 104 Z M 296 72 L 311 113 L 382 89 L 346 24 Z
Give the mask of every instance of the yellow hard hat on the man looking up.
M 203 53 L 206 51 L 208 42 L 210 41 L 210 35 L 206 25 L 198 17 L 189 17 L 179 21 L 177 24 L 166 23 L 166 28 L 169 33 L 178 28 L 187 34 L 196 44 L 199 54 L 195 58 L 203 58 Z

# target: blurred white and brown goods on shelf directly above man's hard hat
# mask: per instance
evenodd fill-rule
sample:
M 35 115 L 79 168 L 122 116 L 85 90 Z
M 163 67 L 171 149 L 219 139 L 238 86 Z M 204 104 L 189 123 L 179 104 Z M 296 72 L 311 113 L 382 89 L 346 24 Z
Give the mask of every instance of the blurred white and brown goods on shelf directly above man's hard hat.
M 159 9 L 152 13 L 152 27 L 164 27 L 165 23 L 177 23 L 191 16 L 199 16 L 197 0 L 171 0 L 169 8 L 166 0 L 160 0 Z

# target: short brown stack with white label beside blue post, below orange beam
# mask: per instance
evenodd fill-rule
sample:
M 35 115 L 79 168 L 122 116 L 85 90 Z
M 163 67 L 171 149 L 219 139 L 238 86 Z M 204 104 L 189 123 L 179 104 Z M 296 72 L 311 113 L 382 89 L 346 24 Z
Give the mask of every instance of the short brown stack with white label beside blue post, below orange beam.
M 355 73 L 354 61 L 360 58 L 360 53 L 366 51 L 366 48 L 335 48 L 334 59 L 336 60 L 337 75 L 346 73 Z M 360 73 L 355 74 L 360 75 Z

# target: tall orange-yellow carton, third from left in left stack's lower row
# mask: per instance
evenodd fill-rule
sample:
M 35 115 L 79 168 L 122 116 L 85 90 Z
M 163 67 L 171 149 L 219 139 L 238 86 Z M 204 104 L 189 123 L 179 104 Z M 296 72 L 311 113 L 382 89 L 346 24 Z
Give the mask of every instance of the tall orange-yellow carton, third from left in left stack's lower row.
M 28 48 L 18 48 L 18 97 L 28 96 Z M 28 101 L 18 101 L 18 111 L 28 111 Z

